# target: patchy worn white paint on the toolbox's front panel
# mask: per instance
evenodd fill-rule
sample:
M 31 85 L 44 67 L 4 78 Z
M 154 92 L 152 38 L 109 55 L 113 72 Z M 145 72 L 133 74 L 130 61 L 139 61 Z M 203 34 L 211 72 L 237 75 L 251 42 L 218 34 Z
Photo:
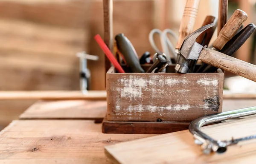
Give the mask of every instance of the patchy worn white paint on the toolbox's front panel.
M 152 116 L 170 116 L 174 113 L 175 116 L 179 111 L 201 110 L 207 114 L 211 111 L 211 101 L 218 101 L 217 97 L 209 98 L 218 96 L 219 80 L 219 75 L 201 78 L 197 74 L 187 78 L 183 74 L 125 74 L 116 78 L 115 85 L 109 85 L 113 95 L 111 116 L 116 116 L 116 120 L 126 118 L 131 121 L 145 121 L 148 113 L 152 113 Z M 191 93 L 195 94 L 195 98 Z M 204 101 L 205 99 L 209 101 Z M 157 100 L 160 101 L 156 102 Z M 196 103 L 193 104 L 193 101 Z

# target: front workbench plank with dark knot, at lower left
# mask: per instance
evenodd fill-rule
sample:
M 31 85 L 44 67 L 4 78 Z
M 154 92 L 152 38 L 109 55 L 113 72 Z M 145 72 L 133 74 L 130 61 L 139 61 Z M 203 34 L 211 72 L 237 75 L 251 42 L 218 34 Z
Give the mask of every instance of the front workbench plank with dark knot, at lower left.
M 0 132 L 0 163 L 111 164 L 104 146 L 148 136 L 103 134 L 92 120 L 15 120 Z

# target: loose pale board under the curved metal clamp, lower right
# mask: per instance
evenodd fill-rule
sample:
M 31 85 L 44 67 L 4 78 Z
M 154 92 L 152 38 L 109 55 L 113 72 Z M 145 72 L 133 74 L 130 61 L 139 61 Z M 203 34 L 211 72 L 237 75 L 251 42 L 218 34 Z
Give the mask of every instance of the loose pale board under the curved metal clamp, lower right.
M 256 133 L 256 117 L 203 127 L 215 139 L 231 139 Z M 194 143 L 189 130 L 106 146 L 106 153 L 121 164 L 254 163 L 256 139 L 227 148 L 224 154 L 206 156 Z M 132 157 L 132 158 L 131 158 Z

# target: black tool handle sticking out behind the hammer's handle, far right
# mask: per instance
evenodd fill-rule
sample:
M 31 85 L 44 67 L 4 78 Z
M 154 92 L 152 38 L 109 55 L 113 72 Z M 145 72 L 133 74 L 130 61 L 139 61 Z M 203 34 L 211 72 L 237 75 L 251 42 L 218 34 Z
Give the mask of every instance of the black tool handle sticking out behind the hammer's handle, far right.
M 248 24 L 238 34 L 236 34 L 220 51 L 228 56 L 233 56 L 235 52 L 244 44 L 244 42 L 253 34 L 256 26 L 253 23 Z M 218 68 L 208 65 L 203 72 L 215 72 Z

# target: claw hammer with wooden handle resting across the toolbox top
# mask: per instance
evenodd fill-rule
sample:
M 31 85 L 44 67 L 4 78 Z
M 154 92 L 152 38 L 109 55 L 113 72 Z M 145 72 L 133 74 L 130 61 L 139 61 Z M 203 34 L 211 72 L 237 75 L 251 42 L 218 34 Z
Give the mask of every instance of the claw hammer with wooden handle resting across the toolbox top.
M 200 59 L 202 62 L 209 65 L 230 71 L 233 74 L 243 76 L 256 82 L 256 65 L 230 57 L 213 49 L 204 48 L 195 41 L 202 32 L 213 27 L 214 25 L 214 23 L 205 25 L 186 37 L 181 45 L 180 55 L 182 55 L 186 60 Z M 178 71 L 180 69 L 180 65 L 176 65 L 175 69 Z

